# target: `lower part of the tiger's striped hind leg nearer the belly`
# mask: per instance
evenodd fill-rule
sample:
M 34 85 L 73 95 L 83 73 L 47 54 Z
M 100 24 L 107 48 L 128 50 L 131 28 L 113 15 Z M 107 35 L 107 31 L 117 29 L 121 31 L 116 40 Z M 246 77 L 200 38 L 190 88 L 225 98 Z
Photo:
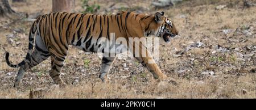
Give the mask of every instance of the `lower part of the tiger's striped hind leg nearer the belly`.
M 64 86 L 63 80 L 60 78 L 61 70 L 63 68 L 65 57 L 58 57 L 51 55 L 52 69 L 49 73 L 53 81 L 60 86 Z

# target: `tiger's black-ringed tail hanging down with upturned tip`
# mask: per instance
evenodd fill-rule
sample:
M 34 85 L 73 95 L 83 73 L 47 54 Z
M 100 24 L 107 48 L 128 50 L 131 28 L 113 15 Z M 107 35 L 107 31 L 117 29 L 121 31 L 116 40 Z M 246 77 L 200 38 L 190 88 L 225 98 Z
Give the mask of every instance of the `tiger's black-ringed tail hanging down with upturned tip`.
M 37 22 L 35 21 L 33 24 L 32 24 L 32 27 L 30 29 L 30 34 L 29 34 L 29 43 L 28 43 L 28 52 L 27 52 L 27 56 L 26 56 L 26 59 L 29 60 L 31 58 L 31 54 L 32 54 L 32 50 L 33 50 L 33 47 L 34 47 L 34 37 L 35 37 L 35 33 L 36 33 L 36 29 L 37 29 Z M 10 61 L 9 61 L 9 52 L 6 53 L 5 55 L 5 60 L 6 60 L 6 63 L 7 65 L 9 65 L 10 67 L 20 67 L 24 64 L 26 64 L 26 61 L 23 60 L 22 62 L 20 62 L 19 64 L 11 64 Z

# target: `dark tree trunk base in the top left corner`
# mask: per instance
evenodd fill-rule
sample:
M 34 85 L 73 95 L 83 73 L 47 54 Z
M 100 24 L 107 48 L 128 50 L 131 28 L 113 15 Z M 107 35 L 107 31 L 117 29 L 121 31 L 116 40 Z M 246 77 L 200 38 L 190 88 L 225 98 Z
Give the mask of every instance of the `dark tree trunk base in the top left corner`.
M 15 11 L 11 9 L 8 0 L 0 0 L 0 16 L 11 16 L 14 15 Z

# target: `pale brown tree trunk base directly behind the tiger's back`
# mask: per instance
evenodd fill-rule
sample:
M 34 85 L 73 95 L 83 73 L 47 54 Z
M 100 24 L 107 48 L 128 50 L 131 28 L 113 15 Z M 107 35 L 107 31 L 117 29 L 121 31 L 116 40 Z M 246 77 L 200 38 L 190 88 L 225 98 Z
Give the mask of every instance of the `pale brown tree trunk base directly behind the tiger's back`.
M 73 11 L 75 0 L 52 0 L 52 12 Z

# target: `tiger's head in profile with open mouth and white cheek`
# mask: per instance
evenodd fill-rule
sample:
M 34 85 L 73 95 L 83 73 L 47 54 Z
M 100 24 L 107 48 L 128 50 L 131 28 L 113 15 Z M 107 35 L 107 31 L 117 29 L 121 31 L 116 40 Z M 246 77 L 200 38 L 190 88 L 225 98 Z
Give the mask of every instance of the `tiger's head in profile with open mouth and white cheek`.
M 170 43 L 171 38 L 179 34 L 174 23 L 164 16 L 164 12 L 156 12 L 153 20 L 148 31 L 153 32 L 157 37 L 162 37 L 166 43 Z

